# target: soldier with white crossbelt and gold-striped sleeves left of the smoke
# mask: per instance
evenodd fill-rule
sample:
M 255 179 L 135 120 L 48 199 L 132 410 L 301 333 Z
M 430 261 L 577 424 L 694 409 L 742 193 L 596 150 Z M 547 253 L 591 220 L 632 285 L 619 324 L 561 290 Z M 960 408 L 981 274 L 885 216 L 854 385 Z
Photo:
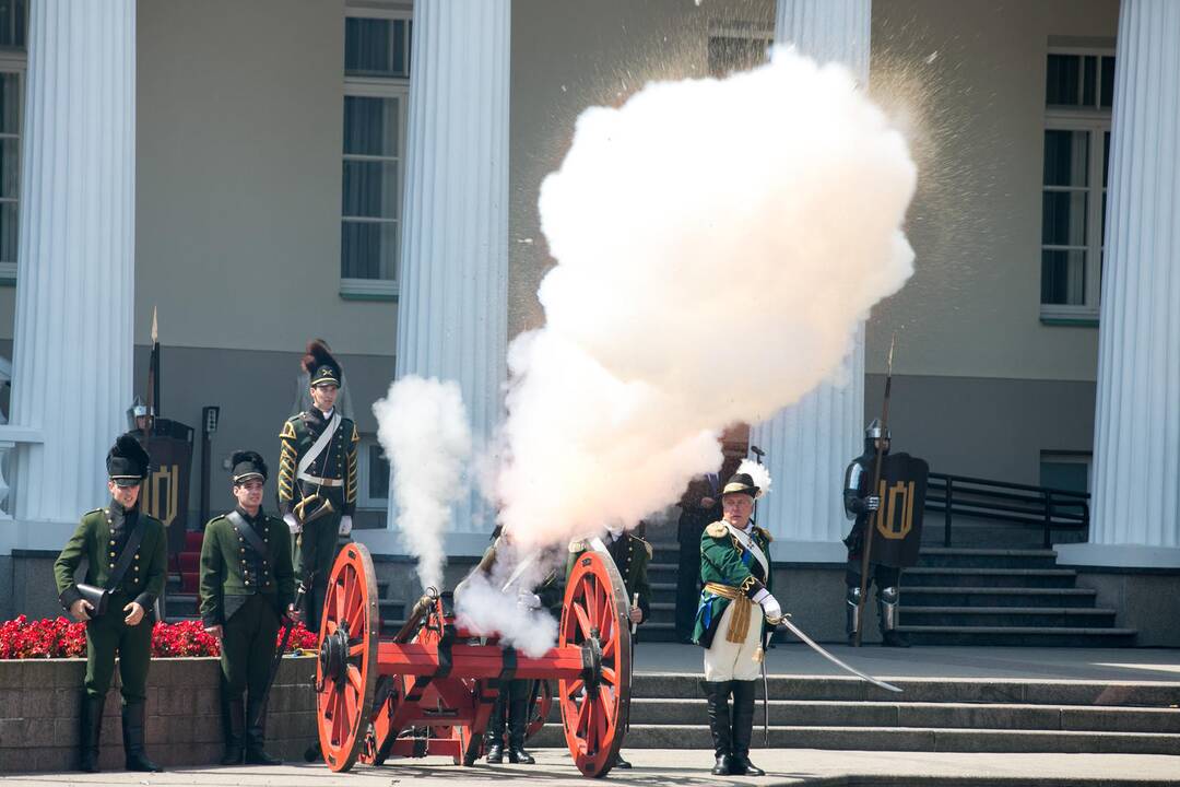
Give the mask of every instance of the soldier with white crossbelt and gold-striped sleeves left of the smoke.
M 278 511 L 295 537 L 295 577 L 308 588 L 307 625 L 319 631 L 336 537 L 353 529 L 360 434 L 335 408 L 342 374 L 323 342 L 308 342 L 303 368 L 313 406 L 287 419 L 278 435 Z

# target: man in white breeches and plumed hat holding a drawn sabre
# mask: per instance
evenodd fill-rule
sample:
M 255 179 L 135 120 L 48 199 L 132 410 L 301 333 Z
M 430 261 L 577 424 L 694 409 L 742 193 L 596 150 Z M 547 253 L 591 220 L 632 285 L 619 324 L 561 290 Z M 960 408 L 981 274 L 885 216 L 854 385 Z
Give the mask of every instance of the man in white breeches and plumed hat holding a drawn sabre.
M 759 494 L 748 473 L 734 474 L 721 491 L 723 518 L 701 534 L 704 588 L 693 641 L 706 649 L 702 688 L 709 703 L 715 775 L 763 775 L 749 761 L 754 690 L 765 625 L 776 623 L 782 608 L 771 595 L 771 534 L 750 522 Z

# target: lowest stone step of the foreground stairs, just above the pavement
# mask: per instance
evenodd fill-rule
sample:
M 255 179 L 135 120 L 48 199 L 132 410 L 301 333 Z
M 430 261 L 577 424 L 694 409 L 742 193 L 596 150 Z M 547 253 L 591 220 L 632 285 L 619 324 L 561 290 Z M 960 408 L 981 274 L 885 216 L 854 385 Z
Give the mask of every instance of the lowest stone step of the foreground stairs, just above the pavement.
M 762 746 L 762 730 L 755 723 L 754 742 Z M 564 745 L 562 728 L 546 724 L 533 739 L 537 747 Z M 769 745 L 774 748 L 848 749 L 873 752 L 1045 752 L 1110 754 L 1180 754 L 1180 735 L 1166 733 L 1097 733 L 1071 730 L 945 729 L 926 727 L 822 727 L 773 726 Z M 710 749 L 713 739 L 706 724 L 632 723 L 623 742 L 624 750 L 644 748 Z M 756 750 L 755 748 L 755 750 Z M 752 752 L 753 754 L 753 752 Z M 756 762 L 756 758 L 755 758 Z

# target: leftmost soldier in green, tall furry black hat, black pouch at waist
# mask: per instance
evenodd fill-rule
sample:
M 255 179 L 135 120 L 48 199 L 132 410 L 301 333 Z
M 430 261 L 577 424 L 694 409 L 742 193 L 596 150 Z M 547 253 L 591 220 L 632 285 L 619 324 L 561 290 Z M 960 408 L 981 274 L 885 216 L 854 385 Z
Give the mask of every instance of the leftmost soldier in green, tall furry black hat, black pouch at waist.
M 144 753 L 144 702 L 151 665 L 152 616 L 164 590 L 168 550 L 164 525 L 139 511 L 139 487 L 148 477 L 148 452 L 123 434 L 106 454 L 111 501 L 83 516 L 53 564 L 61 605 L 86 621 L 86 681 L 81 697 L 80 769 L 98 772 L 103 706 L 119 655 L 123 680 L 123 750 L 127 770 L 159 772 Z M 86 576 L 76 575 L 83 559 Z M 109 591 L 109 592 L 104 592 Z

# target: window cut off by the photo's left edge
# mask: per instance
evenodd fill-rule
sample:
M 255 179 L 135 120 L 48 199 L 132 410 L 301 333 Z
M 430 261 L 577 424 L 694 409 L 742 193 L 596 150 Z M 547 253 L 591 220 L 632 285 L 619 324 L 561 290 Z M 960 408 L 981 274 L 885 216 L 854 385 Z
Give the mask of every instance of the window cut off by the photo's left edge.
M 28 0 L 0 0 L 0 282 L 17 281 Z

